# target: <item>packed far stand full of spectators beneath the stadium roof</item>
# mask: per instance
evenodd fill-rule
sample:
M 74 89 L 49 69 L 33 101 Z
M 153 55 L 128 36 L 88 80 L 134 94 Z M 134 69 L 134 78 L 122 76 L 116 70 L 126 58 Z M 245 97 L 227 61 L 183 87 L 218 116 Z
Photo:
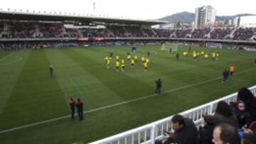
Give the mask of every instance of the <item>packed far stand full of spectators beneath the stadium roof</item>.
M 65 28 L 63 23 L 17 22 L 0 23 L 0 38 L 90 38 L 90 37 L 164 37 L 253 40 L 256 28 L 156 29 L 139 26 L 110 25 L 106 28 Z

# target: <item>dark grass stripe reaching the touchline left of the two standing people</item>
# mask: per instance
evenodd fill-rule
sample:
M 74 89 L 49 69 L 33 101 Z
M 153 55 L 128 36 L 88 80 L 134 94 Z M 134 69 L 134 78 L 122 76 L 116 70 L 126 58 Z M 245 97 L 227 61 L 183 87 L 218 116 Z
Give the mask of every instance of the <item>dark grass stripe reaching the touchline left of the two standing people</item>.
M 50 79 L 48 59 L 44 50 L 31 50 L 1 116 L 0 127 L 33 123 L 68 111 L 55 79 Z M 49 99 L 45 99 L 45 98 Z M 26 99 L 28 104 L 13 105 Z

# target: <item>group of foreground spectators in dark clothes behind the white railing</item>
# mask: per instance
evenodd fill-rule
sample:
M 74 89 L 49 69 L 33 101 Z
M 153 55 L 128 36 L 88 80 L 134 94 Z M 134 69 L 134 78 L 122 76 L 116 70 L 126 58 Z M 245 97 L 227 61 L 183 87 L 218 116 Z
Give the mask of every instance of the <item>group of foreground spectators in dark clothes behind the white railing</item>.
M 204 125 L 196 128 L 189 118 L 175 115 L 174 131 L 167 131 L 157 144 L 255 144 L 256 98 L 249 89 L 238 92 L 238 101 L 219 101 L 213 115 L 203 116 Z

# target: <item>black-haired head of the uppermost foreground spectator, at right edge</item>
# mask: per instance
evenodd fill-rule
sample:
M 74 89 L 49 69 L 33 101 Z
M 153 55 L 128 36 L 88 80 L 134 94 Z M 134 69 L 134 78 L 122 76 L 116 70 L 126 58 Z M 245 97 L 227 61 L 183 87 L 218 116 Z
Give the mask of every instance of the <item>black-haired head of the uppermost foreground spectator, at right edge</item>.
M 250 92 L 249 89 L 242 87 L 239 91 L 238 91 L 238 99 L 240 101 L 244 101 L 245 104 L 250 103 L 251 101 L 253 101 L 253 99 L 255 99 L 254 95 L 252 94 L 252 92 Z

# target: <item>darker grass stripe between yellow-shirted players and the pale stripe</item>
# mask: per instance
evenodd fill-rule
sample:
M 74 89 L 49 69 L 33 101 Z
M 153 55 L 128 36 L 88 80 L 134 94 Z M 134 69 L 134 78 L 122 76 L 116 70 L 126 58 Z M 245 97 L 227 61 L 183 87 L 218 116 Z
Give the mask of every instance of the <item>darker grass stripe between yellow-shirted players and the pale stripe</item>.
M 102 63 L 92 59 L 92 57 L 89 55 L 85 55 L 85 53 L 80 53 L 75 50 L 68 50 L 66 54 L 77 62 L 78 65 L 80 65 L 84 70 L 92 74 L 93 77 L 100 79 L 102 84 L 105 84 L 109 89 L 112 90 L 112 92 L 116 93 L 117 96 L 122 96 L 122 99 L 124 100 L 131 99 L 131 96 L 134 95 L 138 96 L 145 94 L 152 89 L 149 84 L 139 82 L 138 79 L 124 75 L 122 72 L 112 72 L 106 69 L 103 69 L 104 72 L 102 72 Z M 126 84 L 126 86 L 128 84 L 129 87 L 124 87 L 122 84 Z M 137 85 L 140 87 L 137 87 Z M 127 91 L 127 89 L 133 90 Z

